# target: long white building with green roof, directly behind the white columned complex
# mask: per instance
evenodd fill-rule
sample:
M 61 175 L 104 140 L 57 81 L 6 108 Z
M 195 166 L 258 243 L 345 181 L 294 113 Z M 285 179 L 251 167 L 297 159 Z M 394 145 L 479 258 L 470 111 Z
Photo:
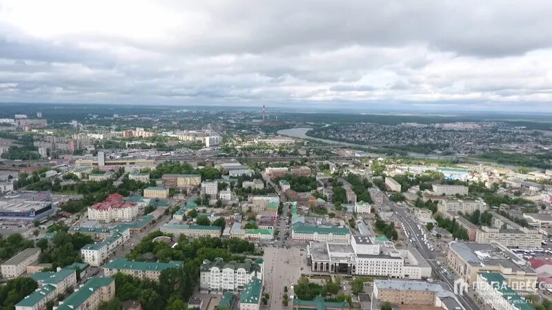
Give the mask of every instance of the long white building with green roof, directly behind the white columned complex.
M 294 241 L 345 242 L 351 238 L 347 227 L 309 226 L 296 223 L 291 229 L 291 239 Z

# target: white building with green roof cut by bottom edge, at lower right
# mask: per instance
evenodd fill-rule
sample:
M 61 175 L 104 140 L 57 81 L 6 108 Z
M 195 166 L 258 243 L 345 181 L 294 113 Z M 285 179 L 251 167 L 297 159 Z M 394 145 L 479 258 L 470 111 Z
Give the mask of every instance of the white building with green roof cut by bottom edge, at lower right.
M 475 292 L 493 309 L 535 310 L 525 298 L 511 289 L 508 281 L 497 272 L 477 273 Z

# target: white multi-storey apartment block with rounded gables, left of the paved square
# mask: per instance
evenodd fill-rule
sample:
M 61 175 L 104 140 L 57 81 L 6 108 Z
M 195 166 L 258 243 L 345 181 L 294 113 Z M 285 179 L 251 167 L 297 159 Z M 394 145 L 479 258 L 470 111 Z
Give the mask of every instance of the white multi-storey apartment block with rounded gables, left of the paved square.
M 263 280 L 262 258 L 244 262 L 224 262 L 222 258 L 204 260 L 200 267 L 199 289 L 205 293 L 242 291 L 252 280 Z

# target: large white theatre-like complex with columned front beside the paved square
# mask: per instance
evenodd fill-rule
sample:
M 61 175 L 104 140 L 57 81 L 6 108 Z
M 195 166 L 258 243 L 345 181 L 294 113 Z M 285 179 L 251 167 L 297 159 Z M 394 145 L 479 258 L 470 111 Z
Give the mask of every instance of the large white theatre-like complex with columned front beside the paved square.
M 356 276 L 422 279 L 431 277 L 431 266 L 416 249 L 397 250 L 392 242 L 352 236 L 351 244 L 310 242 L 307 265 L 315 272 Z

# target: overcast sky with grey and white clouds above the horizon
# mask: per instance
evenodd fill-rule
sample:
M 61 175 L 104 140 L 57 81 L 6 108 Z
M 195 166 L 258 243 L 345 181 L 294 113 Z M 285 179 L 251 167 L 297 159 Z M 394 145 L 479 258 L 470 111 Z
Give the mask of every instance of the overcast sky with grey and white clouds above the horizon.
M 552 111 L 552 1 L 0 0 L 0 101 Z

